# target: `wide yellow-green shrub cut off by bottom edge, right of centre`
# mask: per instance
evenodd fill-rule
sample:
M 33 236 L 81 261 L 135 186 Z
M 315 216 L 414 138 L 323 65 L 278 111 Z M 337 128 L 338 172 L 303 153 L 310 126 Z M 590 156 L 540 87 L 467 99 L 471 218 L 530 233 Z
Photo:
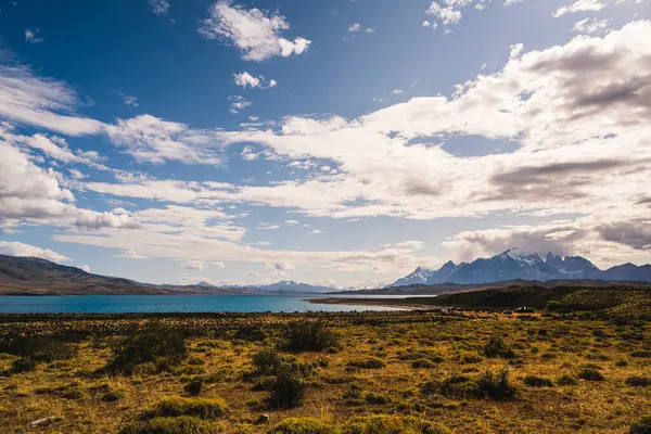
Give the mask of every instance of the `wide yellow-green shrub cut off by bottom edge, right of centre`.
M 341 430 L 342 434 L 450 434 L 451 431 L 423 419 L 374 414 L 349 420 Z

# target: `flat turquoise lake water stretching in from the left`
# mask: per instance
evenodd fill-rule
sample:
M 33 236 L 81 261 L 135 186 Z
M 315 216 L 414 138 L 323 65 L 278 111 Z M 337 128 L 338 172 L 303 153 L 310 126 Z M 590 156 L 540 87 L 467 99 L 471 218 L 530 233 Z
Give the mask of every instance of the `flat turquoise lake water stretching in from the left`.
M 43 295 L 0 296 L 1 314 L 294 312 L 392 310 L 386 307 L 319 305 L 315 296 L 268 295 Z M 352 303 L 354 303 L 352 301 Z

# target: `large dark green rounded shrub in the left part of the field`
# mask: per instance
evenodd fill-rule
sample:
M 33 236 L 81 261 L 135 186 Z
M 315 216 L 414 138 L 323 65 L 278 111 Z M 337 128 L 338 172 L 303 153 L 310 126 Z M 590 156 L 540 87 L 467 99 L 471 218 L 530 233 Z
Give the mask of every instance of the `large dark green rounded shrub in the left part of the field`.
M 111 374 L 132 374 L 138 365 L 156 362 L 158 369 L 179 365 L 188 357 L 183 336 L 161 327 L 150 327 L 120 342 L 106 366 Z

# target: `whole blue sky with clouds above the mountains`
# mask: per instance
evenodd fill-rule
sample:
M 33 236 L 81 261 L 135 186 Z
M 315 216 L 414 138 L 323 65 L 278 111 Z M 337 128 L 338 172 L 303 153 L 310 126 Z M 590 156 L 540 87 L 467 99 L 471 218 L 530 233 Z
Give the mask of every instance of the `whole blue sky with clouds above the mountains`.
M 651 1 L 0 1 L 0 253 L 341 288 L 651 261 Z

